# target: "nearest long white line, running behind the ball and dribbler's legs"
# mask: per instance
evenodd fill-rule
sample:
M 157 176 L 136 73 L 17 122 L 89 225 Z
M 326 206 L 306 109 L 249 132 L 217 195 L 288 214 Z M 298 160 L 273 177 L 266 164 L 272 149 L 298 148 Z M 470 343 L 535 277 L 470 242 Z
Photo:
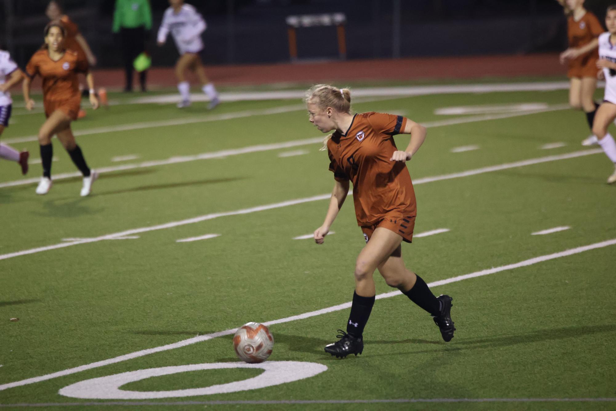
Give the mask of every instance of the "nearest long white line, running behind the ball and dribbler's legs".
M 565 250 L 565 251 L 560 251 L 558 253 L 552 253 L 552 254 L 546 254 L 543 256 L 538 256 L 535 258 L 530 258 L 524 261 L 520 261 L 520 262 L 516 262 L 514 264 L 508 264 L 506 266 L 501 266 L 501 267 L 494 267 L 494 268 L 490 268 L 490 269 L 486 269 L 486 270 L 482 270 L 482 271 L 476 271 L 476 272 L 471 272 L 470 274 L 464 274 L 464 275 L 458 275 L 457 277 L 451 277 L 449 279 L 445 279 L 445 280 L 440 280 L 440 281 L 435 281 L 435 282 L 431 282 L 428 284 L 428 287 L 438 287 L 439 285 L 445 285 L 445 284 L 449 284 L 449 283 L 455 283 L 455 282 L 459 282 L 462 280 L 468 280 L 468 279 L 473 279 L 476 277 L 482 277 L 484 275 L 490 275 L 490 274 L 495 274 L 497 272 L 503 272 L 503 271 L 508 271 L 508 270 L 513 270 L 519 267 L 527 267 L 527 266 L 532 266 L 533 264 L 537 264 L 538 262 L 543 262 L 543 261 L 549 261 L 552 259 L 556 259 L 556 258 L 562 258 L 565 256 L 570 256 L 573 254 L 579 254 L 579 253 L 583 253 L 585 251 L 590 251 L 590 250 L 596 250 L 598 248 L 604 248 L 610 245 L 615 245 L 616 244 L 616 238 L 612 238 L 611 240 L 606 240 L 603 242 L 599 242 L 599 243 L 594 243 L 594 244 L 590 244 L 590 245 L 585 245 L 585 246 L 580 246 L 580 247 L 576 247 L 576 248 L 571 248 L 570 250 Z M 376 299 L 383 299 L 383 298 L 390 298 L 396 295 L 401 295 L 402 293 L 400 291 L 391 291 L 389 293 L 383 293 L 383 294 L 379 294 L 376 296 Z M 344 303 L 344 304 L 338 304 L 337 306 L 331 306 L 331 307 L 326 307 L 317 311 L 310 311 L 310 312 L 304 312 L 303 314 L 299 314 L 299 315 L 292 315 L 291 317 L 286 317 L 286 318 L 282 318 L 282 319 L 278 319 L 278 320 L 273 320 L 273 321 L 268 321 L 265 322 L 263 324 L 265 325 L 274 325 L 274 324 L 283 324 L 285 322 L 291 322 L 291 321 L 295 321 L 295 320 L 303 320 L 303 319 L 307 319 L 310 317 L 315 317 L 317 315 L 322 315 L 322 314 L 328 314 L 330 312 L 334 312 L 334 311 L 340 311 L 343 309 L 347 309 L 351 307 L 351 301 Z M 118 356 L 118 357 L 113 357 L 107 360 L 101 360 L 101 361 L 97 361 L 97 362 L 92 362 L 90 364 L 86 364 L 86 365 L 81 365 L 79 367 L 74 367 L 74 368 L 68 368 L 67 370 L 63 370 L 63 371 L 59 371 L 59 372 L 55 372 L 55 373 L 51 373 L 51 374 L 46 374 L 46 375 L 41 375 L 41 376 L 36 376 L 33 378 L 26 378 L 26 380 L 21 380 L 21 381 L 15 381 L 12 383 L 7 383 L 7 384 L 2 384 L 0 385 L 0 391 L 4 390 L 4 389 L 8 389 L 8 388 L 14 388 L 14 387 L 18 387 L 18 386 L 23 386 L 23 385 L 28 385 L 28 384 L 33 384 L 33 383 L 38 383 L 40 381 L 46 381 L 46 380 L 51 380 L 52 378 L 57 378 L 59 376 L 65 376 L 65 375 L 71 375 L 74 373 L 78 373 L 81 371 L 85 371 L 85 370 L 91 370 L 92 368 L 98 368 L 98 367 L 103 367 L 105 365 L 109 365 L 109 364 L 116 364 L 118 362 L 122 362 L 122 361 L 126 361 L 126 360 L 130 360 L 130 359 L 134 359 L 134 358 L 138 358 L 138 357 L 143 357 L 143 356 L 147 356 L 148 354 L 154 354 L 155 352 L 162 352 L 162 351 L 168 351 L 170 349 L 176 349 L 176 348 L 180 348 L 180 347 L 185 347 L 191 344 L 195 344 L 195 343 L 200 343 L 201 341 L 208 341 L 211 340 L 212 338 L 216 338 L 219 336 L 224 336 L 224 335 L 232 335 L 233 333 L 235 333 L 237 331 L 237 328 L 233 328 L 230 330 L 224 330 L 224 331 L 219 331 L 216 333 L 211 333 L 211 334 L 206 334 L 206 335 L 200 335 L 200 336 L 196 336 L 193 338 L 188 338 L 187 340 L 182 340 L 182 341 L 178 341 L 177 343 L 172 343 L 172 344 L 166 344 L 163 346 L 158 346 L 155 348 L 148 348 L 148 349 L 142 349 L 140 351 L 136 351 L 136 352 L 131 352 L 130 354 L 124 354 L 123 356 Z

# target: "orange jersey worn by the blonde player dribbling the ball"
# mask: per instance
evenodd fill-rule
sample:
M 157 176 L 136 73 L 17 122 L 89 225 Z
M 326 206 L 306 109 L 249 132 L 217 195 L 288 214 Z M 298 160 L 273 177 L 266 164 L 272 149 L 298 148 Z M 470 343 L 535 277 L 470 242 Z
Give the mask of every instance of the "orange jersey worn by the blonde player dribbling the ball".
M 370 226 L 392 215 L 416 215 L 415 190 L 407 166 L 389 161 L 397 150 L 393 136 L 406 124 L 403 116 L 356 114 L 346 133 L 336 131 L 327 142 L 334 178 L 353 183 L 359 226 Z

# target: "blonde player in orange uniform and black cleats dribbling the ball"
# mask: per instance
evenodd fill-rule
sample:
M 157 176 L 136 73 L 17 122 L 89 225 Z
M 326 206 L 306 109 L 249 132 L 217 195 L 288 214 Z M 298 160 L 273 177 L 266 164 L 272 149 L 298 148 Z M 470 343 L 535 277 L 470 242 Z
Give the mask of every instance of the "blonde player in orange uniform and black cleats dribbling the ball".
M 366 246 L 355 263 L 355 293 L 346 332 L 325 351 L 336 357 L 361 354 L 363 328 L 375 303 L 375 269 L 387 285 L 428 311 L 445 341 L 453 338 L 452 298 L 435 297 L 419 275 L 408 270 L 401 243 L 410 243 L 415 227 L 415 191 L 405 165 L 423 144 L 426 128 L 403 116 L 382 113 L 351 114 L 351 91 L 319 84 L 306 92 L 310 123 L 322 132 L 334 131 L 326 140 L 334 189 L 325 222 L 314 232 L 322 244 L 353 183 L 357 224 Z M 405 151 L 398 150 L 396 134 L 411 134 Z M 325 149 L 325 147 L 323 148 Z

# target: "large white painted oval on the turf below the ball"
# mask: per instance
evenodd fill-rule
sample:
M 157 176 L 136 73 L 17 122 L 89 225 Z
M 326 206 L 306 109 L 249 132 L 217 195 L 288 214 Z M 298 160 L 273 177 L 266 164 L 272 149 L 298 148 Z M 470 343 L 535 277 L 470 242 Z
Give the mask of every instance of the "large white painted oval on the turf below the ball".
M 178 389 L 175 391 L 125 391 L 121 386 L 153 376 L 169 375 L 198 370 L 222 368 L 261 368 L 263 373 L 247 380 L 211 385 L 203 388 Z M 211 394 L 237 393 L 249 389 L 265 388 L 303 380 L 327 370 L 323 364 L 299 361 L 266 361 L 261 364 L 243 362 L 214 362 L 206 364 L 177 365 L 174 367 L 147 368 L 120 374 L 107 375 L 66 386 L 58 393 L 65 397 L 83 399 L 155 399 L 168 397 L 205 396 Z

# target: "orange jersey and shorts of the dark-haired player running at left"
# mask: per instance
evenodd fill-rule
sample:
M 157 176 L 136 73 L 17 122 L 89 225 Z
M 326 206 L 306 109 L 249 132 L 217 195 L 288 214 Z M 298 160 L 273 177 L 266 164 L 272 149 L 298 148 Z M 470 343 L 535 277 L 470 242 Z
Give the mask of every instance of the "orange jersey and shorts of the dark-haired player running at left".
M 74 51 L 67 50 L 60 60 L 49 57 L 47 49 L 34 53 L 26 65 L 26 75 L 43 78 L 43 104 L 49 117 L 55 110 L 62 110 L 71 118 L 77 118 L 81 92 L 79 92 L 78 73 L 86 73 L 88 65 L 85 57 L 79 58 Z

